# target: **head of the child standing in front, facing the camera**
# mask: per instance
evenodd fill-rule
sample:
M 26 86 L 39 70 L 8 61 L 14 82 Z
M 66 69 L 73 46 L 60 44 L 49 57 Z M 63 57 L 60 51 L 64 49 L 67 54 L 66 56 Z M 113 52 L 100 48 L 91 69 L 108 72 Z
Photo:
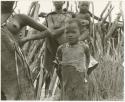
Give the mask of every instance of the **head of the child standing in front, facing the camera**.
M 81 23 L 79 19 L 73 18 L 66 22 L 66 38 L 72 45 L 78 42 L 78 38 L 81 34 Z

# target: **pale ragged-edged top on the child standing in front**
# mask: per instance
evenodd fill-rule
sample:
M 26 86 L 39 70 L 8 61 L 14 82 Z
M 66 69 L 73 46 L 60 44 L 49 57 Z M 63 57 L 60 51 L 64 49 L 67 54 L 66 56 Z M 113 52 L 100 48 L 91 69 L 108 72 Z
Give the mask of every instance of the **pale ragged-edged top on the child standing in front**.
M 85 72 L 86 70 L 86 59 L 84 53 L 84 47 L 81 42 L 76 45 L 69 45 L 66 43 L 62 49 L 62 65 L 71 65 L 76 68 L 79 72 Z

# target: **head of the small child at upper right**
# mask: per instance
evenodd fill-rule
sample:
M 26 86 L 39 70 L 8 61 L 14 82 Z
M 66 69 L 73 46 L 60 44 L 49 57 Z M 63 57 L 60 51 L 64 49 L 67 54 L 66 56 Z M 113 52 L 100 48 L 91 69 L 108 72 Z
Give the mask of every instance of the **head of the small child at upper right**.
M 86 13 L 89 10 L 89 5 L 90 5 L 89 1 L 79 1 L 78 8 L 80 12 Z

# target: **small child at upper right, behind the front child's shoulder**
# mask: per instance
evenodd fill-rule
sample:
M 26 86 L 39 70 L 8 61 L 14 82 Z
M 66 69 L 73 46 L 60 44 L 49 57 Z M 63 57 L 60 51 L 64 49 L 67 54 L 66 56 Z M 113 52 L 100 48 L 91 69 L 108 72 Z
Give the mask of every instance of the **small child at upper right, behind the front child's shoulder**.
M 84 41 L 89 36 L 90 31 L 90 14 L 89 14 L 89 5 L 88 1 L 79 1 L 79 13 L 76 14 L 76 18 L 80 20 L 82 26 L 82 34 L 79 37 L 79 40 Z

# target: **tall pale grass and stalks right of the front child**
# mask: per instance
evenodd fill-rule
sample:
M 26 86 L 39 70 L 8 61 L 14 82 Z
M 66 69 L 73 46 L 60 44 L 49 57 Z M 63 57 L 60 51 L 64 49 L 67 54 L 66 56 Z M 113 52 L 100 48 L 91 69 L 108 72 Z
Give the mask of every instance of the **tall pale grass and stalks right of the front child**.
M 123 32 L 116 28 L 118 37 L 115 39 L 111 36 L 103 42 L 105 37 L 101 37 L 103 32 L 100 33 L 98 27 L 100 26 L 96 26 L 93 47 L 96 50 L 94 57 L 99 65 L 89 76 L 90 98 L 91 100 L 122 100 L 124 91 Z

